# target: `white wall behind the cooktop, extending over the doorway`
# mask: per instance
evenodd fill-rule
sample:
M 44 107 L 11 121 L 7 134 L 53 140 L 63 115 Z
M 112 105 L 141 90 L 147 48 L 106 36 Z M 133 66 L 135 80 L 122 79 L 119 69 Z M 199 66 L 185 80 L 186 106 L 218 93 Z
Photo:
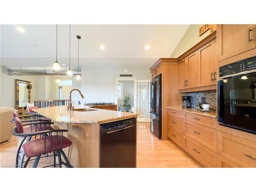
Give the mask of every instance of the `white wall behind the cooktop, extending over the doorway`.
M 153 65 L 153 63 L 152 63 Z M 132 74 L 137 80 L 151 79 L 148 66 L 82 66 L 81 91 L 85 102 L 116 102 L 116 78 Z M 126 77 L 127 78 L 127 77 Z

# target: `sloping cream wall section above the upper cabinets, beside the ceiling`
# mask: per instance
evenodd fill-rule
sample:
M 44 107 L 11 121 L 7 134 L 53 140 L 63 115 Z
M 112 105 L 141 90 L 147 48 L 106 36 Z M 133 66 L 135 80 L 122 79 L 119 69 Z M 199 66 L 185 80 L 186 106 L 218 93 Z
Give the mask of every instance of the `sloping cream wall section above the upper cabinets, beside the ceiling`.
M 202 25 L 190 25 L 170 57 L 179 57 L 191 47 L 195 46 L 199 41 L 203 40 L 206 36 L 208 36 L 209 31 L 207 31 L 202 36 L 199 36 L 199 28 L 201 26 Z

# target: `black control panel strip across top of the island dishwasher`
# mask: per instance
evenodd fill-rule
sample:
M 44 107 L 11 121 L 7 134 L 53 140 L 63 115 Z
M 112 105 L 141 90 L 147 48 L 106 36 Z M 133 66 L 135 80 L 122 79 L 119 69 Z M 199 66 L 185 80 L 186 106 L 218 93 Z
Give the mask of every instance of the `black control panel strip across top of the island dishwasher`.
M 100 125 L 100 130 L 103 133 L 113 133 L 116 131 L 121 131 L 124 129 L 128 129 L 132 126 L 136 125 L 136 119 L 125 119 L 121 121 L 115 121 L 111 123 L 105 123 Z

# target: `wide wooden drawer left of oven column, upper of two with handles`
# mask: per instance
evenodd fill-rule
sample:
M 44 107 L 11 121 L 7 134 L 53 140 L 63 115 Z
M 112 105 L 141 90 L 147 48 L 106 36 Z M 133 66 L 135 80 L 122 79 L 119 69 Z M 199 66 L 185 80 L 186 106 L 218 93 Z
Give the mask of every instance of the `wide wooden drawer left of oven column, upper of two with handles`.
M 217 131 L 198 123 L 184 120 L 184 135 L 194 139 L 212 151 L 217 151 Z

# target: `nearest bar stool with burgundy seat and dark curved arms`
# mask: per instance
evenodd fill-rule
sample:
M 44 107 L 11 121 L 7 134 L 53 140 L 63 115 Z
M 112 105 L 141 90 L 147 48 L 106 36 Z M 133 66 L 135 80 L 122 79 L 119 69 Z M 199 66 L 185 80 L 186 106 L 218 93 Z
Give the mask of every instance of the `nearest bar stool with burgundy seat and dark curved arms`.
M 30 140 L 23 145 L 25 156 L 28 157 L 24 168 L 27 167 L 32 157 L 36 157 L 33 163 L 33 167 L 37 167 L 41 155 L 52 152 L 55 152 L 58 155 L 59 167 L 62 167 L 62 164 L 66 167 L 72 167 L 66 154 L 62 150 L 63 148 L 72 145 L 72 141 L 67 137 L 63 136 L 63 132 L 68 132 L 68 130 L 45 130 L 34 133 L 24 133 L 23 124 L 18 117 L 15 117 L 15 123 L 16 127 L 13 127 L 12 129 L 12 134 L 14 136 L 24 137 L 24 139 L 32 136 L 39 137 Z M 52 135 L 53 133 L 56 133 L 56 135 Z M 61 135 L 58 135 L 58 133 L 60 133 Z M 65 162 L 62 162 L 61 156 L 65 159 Z

